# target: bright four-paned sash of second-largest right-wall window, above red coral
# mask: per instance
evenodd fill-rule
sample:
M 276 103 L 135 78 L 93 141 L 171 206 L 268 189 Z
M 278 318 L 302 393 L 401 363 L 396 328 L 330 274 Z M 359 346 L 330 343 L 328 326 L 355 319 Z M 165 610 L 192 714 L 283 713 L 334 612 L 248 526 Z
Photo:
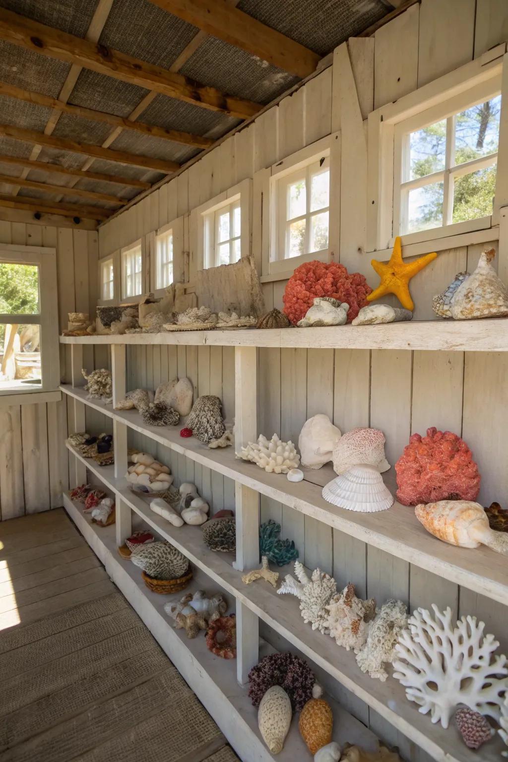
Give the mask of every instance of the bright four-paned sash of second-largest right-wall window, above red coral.
M 309 163 L 277 181 L 276 259 L 326 251 L 329 237 L 330 161 Z

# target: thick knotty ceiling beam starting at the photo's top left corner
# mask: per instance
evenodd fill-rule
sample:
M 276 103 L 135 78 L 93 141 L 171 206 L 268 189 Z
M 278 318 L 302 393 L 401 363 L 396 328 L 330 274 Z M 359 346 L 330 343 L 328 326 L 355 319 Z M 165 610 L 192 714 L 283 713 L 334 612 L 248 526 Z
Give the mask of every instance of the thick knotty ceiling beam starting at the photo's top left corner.
M 168 72 L 160 66 L 139 61 L 104 45 L 95 45 L 82 40 L 81 37 L 47 27 L 5 8 L 0 8 L 0 40 L 6 40 L 33 53 L 84 66 L 85 69 L 154 90 L 170 98 L 221 111 L 238 119 L 248 119 L 260 110 L 260 105 L 252 101 L 226 95 L 216 88 L 193 82 L 181 74 Z

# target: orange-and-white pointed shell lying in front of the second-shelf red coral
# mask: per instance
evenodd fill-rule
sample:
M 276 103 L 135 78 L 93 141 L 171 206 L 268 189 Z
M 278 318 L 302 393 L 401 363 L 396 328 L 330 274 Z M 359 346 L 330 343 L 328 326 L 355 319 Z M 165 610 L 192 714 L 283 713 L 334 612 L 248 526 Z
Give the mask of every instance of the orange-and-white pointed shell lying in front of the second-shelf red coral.
M 487 545 L 508 555 L 508 535 L 490 529 L 487 514 L 479 503 L 468 500 L 440 500 L 417 505 L 414 513 L 423 527 L 445 543 L 461 548 Z

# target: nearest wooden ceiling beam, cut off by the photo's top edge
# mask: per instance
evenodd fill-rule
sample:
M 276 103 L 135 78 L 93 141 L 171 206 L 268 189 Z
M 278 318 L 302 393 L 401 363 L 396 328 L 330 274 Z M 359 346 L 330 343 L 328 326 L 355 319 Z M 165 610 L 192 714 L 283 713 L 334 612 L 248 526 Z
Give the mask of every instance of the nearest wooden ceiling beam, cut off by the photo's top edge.
M 150 0 L 206 34 L 247 50 L 286 72 L 304 78 L 315 71 L 318 53 L 277 32 L 226 0 Z

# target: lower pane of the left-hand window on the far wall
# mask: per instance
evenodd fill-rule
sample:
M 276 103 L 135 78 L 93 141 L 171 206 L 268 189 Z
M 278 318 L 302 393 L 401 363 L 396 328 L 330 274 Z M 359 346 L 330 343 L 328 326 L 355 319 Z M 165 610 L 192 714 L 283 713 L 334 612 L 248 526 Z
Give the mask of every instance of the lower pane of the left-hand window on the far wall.
M 0 325 L 0 368 L 2 363 L 0 392 L 40 389 L 40 325 Z

